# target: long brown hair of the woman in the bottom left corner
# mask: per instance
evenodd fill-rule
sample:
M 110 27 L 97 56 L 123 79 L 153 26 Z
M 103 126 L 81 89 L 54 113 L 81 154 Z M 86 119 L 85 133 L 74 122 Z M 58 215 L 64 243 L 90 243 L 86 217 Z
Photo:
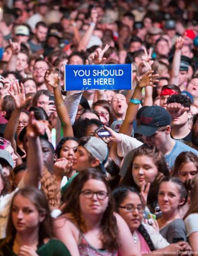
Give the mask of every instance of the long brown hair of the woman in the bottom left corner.
M 46 199 L 43 192 L 34 187 L 26 187 L 18 190 L 16 194 L 13 196 L 10 213 L 8 216 L 8 224 L 6 228 L 6 236 L 13 237 L 16 234 L 16 228 L 14 227 L 12 221 L 12 212 L 13 212 L 13 202 L 17 195 L 21 195 L 25 198 L 28 198 L 36 207 L 39 214 L 45 216 L 44 220 L 40 223 L 39 226 L 39 239 L 43 240 L 45 238 L 50 238 L 53 235 L 52 231 L 52 217 L 50 214 L 50 207 L 48 204 L 48 200 Z

